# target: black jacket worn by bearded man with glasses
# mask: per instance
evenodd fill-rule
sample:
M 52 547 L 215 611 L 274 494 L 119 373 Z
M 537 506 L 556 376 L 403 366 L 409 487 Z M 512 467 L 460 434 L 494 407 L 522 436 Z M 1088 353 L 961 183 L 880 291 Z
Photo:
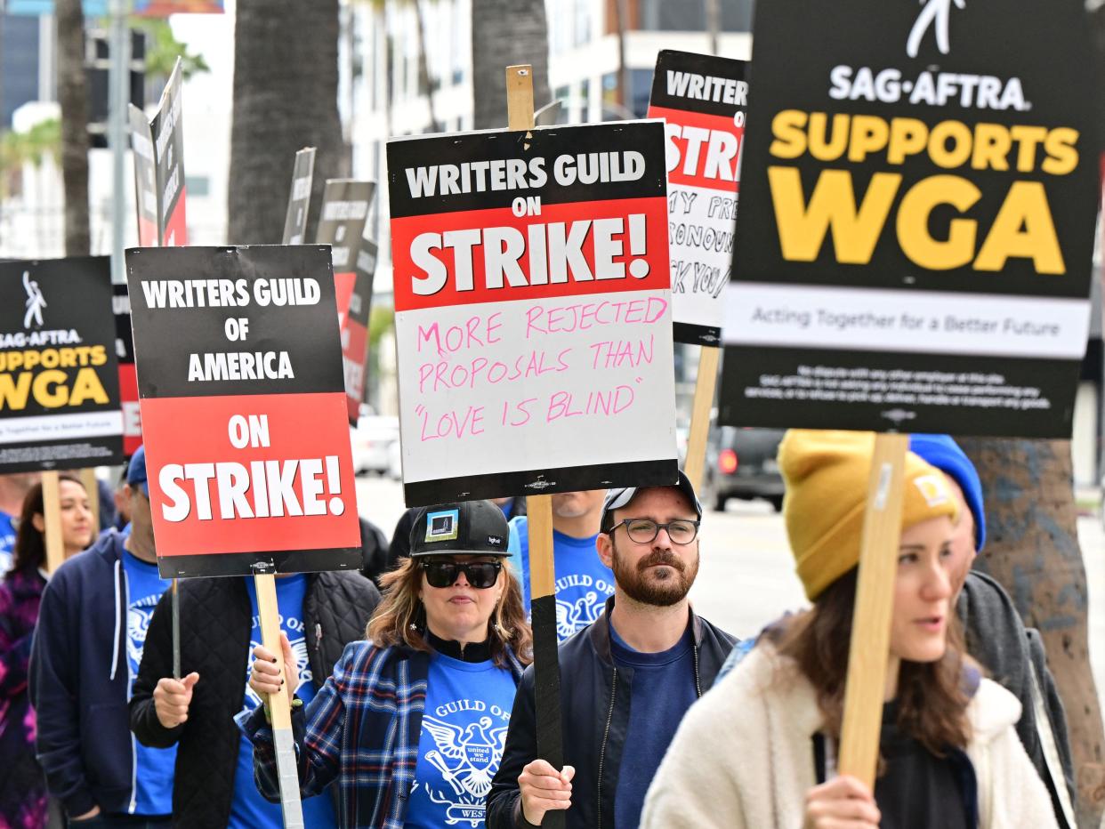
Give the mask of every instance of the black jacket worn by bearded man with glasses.
M 610 611 L 560 643 L 560 716 L 564 762 L 575 766 L 568 829 L 613 829 L 614 791 L 629 728 L 633 670 L 614 665 L 610 654 Z M 691 612 L 698 695 L 714 684 L 736 639 Z M 526 669 L 514 697 L 503 759 L 487 795 L 487 829 L 517 829 L 522 816 L 518 775 L 537 757 L 534 668 Z

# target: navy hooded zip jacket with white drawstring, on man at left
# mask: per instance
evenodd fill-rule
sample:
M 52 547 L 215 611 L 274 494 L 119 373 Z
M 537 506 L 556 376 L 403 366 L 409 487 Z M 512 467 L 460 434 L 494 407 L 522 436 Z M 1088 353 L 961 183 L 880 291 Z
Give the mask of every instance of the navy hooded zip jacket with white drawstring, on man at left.
M 70 817 L 134 810 L 127 702 L 127 579 L 110 531 L 65 562 L 42 594 L 29 688 L 46 788 Z

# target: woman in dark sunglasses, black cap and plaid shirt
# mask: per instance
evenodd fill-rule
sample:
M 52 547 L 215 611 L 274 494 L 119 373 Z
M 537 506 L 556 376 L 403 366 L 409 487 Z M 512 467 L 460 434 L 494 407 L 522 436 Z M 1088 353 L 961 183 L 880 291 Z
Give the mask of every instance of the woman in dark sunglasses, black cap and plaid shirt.
M 515 690 L 533 660 L 522 594 L 504 567 L 508 533 L 490 501 L 423 510 L 410 558 L 381 579 L 368 641 L 346 647 L 309 705 L 293 701 L 299 791 L 312 797 L 338 780 L 340 826 L 483 826 Z M 298 684 L 281 643 L 283 678 L 274 654 L 254 649 L 250 686 L 262 699 L 282 682 Z M 257 788 L 277 800 L 266 707 L 239 723 L 253 742 Z

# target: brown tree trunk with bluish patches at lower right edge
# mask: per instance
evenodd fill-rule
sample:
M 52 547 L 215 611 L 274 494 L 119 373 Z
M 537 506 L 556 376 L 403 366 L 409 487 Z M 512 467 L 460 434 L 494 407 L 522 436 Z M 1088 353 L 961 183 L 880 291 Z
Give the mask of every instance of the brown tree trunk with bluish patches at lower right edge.
M 1105 734 L 1090 670 L 1071 442 L 958 440 L 986 496 L 987 543 L 975 566 L 1002 584 L 1024 623 L 1043 637 L 1066 709 L 1078 825 L 1096 829 L 1105 808 Z

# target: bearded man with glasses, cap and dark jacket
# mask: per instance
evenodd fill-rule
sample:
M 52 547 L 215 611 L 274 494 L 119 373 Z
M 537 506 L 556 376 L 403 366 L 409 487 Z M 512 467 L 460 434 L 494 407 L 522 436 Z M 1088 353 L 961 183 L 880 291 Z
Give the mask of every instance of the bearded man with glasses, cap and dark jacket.
M 702 505 L 682 473 L 673 486 L 607 494 L 596 547 L 613 571 L 614 595 L 559 649 L 565 766 L 537 759 L 530 667 L 487 796 L 488 829 L 540 826 L 557 809 L 567 810 L 572 829 L 639 825 L 680 721 L 735 643 L 687 601 L 701 523 Z

